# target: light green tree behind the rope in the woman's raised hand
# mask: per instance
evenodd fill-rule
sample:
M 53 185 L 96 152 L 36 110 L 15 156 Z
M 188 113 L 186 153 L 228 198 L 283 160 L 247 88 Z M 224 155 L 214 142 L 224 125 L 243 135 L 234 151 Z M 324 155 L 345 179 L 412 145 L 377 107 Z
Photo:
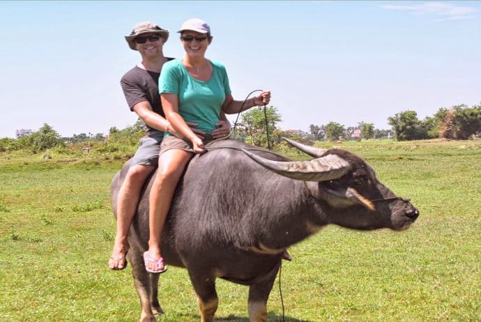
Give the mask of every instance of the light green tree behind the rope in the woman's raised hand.
M 266 107 L 266 116 L 271 141 L 280 141 L 280 131 L 277 131 L 277 123 L 282 121 L 281 114 L 277 112 L 277 108 L 270 106 Z M 245 134 L 247 143 L 257 146 L 268 146 L 264 107 L 254 107 L 243 112 L 238 128 Z

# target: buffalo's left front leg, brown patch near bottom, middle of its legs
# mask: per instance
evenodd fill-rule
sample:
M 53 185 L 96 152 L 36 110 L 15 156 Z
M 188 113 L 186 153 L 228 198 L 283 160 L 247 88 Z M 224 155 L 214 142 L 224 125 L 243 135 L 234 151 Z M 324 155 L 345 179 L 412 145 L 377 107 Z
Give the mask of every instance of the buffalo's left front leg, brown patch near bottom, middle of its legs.
M 214 314 L 219 305 L 215 291 L 215 276 L 213 274 L 195 274 L 189 272 L 190 281 L 197 293 L 197 304 L 201 312 L 201 322 L 213 322 Z

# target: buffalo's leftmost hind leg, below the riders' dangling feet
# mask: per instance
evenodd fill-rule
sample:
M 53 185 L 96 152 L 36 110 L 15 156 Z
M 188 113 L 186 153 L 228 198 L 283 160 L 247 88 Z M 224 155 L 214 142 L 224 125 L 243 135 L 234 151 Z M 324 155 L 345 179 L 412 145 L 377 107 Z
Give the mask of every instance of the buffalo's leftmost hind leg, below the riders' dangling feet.
M 132 245 L 132 244 L 130 244 Z M 134 275 L 134 284 L 140 298 L 140 305 L 142 313 L 140 314 L 140 322 L 155 322 L 151 308 L 151 277 L 147 273 L 144 266 L 144 259 L 142 253 L 137 249 L 131 247 L 128 252 L 128 259 L 132 266 L 132 275 Z

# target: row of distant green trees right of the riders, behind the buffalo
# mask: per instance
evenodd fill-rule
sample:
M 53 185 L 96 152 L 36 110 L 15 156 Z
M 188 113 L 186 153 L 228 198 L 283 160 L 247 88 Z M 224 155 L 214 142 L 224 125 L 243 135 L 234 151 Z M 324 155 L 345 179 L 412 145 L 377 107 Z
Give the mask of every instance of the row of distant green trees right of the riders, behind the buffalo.
M 330 121 L 325 125 L 309 125 L 309 132 L 302 130 L 284 131 L 277 128 L 282 121 L 281 115 L 275 107 L 257 107 L 244 112 L 238 125 L 236 137 L 247 143 L 266 146 L 266 119 L 270 137 L 274 144 L 281 141 L 280 137 L 293 137 L 300 141 L 339 141 L 353 139 L 387 139 L 397 141 L 416 139 L 469 139 L 481 135 L 481 104 L 473 107 L 456 105 L 441 107 L 434 116 L 427 116 L 424 120 L 412 110 L 399 112 L 388 118 L 391 129 L 378 129 L 373 123 L 361 121 L 357 126 L 345 127 Z

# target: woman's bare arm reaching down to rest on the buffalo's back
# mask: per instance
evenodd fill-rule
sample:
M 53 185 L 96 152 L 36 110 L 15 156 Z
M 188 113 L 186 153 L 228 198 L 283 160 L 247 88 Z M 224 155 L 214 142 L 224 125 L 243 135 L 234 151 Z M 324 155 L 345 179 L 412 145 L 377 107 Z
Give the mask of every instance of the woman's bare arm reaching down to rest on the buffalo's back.
M 181 114 L 178 113 L 178 95 L 174 93 L 162 93 L 160 94 L 160 100 L 162 102 L 162 108 L 164 109 L 165 118 L 170 122 L 171 127 L 192 142 L 195 153 L 206 152 L 202 140 L 189 128 L 189 125 L 185 123 Z

